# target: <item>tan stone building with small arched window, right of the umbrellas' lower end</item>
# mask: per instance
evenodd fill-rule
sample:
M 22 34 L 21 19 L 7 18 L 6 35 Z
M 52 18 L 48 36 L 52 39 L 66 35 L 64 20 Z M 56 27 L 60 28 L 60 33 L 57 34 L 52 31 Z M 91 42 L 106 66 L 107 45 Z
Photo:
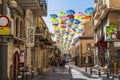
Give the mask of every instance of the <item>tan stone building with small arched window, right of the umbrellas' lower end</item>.
M 74 40 L 71 55 L 75 57 L 75 65 L 77 66 L 93 66 L 94 64 L 94 36 L 93 36 L 93 21 L 90 21 L 85 26 L 83 36 L 77 37 Z

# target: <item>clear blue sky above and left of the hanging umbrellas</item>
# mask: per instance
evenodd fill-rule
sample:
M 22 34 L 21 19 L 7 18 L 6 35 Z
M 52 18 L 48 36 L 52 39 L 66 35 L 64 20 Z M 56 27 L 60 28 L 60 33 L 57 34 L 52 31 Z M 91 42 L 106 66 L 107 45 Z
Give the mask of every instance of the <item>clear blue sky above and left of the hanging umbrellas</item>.
M 54 32 L 52 28 L 52 23 L 50 21 L 50 14 L 57 14 L 58 12 L 66 12 L 67 10 L 82 11 L 88 7 L 94 7 L 94 0 L 46 0 L 48 15 L 43 17 L 45 20 L 49 31 Z

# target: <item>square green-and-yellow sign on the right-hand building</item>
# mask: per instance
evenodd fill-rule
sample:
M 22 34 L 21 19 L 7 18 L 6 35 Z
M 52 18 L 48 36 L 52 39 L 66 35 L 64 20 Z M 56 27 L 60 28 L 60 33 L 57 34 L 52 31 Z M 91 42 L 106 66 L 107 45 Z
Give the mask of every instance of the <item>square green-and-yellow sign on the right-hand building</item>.
M 115 25 L 106 26 L 105 40 L 106 41 L 117 40 L 117 26 L 115 26 Z

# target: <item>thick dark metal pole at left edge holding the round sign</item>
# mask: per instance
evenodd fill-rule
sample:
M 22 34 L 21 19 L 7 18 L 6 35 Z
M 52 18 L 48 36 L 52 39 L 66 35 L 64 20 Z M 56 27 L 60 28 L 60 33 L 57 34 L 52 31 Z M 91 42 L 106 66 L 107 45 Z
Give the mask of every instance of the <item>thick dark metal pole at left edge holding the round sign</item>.
M 2 0 L 2 15 L 6 15 L 6 0 Z M 5 36 L 0 42 L 0 80 L 7 80 L 7 55 L 8 45 Z

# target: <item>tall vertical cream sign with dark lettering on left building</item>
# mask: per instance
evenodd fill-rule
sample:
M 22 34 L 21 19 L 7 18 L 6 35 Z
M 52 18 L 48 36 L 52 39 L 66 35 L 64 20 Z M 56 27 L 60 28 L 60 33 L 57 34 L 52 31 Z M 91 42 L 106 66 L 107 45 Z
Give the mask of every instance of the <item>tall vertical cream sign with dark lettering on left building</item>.
M 27 38 L 26 38 L 27 47 L 34 47 L 35 41 L 35 27 L 27 27 Z

